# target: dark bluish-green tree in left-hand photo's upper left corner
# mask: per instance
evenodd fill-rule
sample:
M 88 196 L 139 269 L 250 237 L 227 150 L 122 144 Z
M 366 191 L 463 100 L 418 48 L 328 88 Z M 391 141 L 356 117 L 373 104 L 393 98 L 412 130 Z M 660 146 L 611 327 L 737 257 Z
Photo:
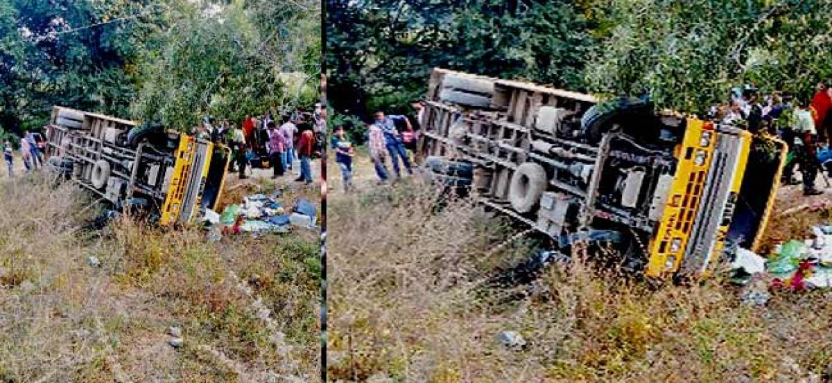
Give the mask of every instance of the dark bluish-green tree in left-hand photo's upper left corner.
M 39 127 L 55 104 L 123 115 L 135 94 L 125 68 L 157 7 L 126 0 L 0 4 L 0 123 L 18 133 Z

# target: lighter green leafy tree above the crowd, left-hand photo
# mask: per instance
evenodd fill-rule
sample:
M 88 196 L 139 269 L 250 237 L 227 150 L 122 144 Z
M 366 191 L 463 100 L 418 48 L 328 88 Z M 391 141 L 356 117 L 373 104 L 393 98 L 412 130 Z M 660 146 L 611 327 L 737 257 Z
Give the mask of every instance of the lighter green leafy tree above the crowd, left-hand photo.
M 166 13 L 171 28 L 161 34 L 161 49 L 142 56 L 136 118 L 185 129 L 206 114 L 241 120 L 269 109 L 310 106 L 317 99 L 319 69 L 309 63 L 320 43 L 306 42 L 320 39 L 319 33 L 298 34 L 309 32 L 310 20 L 316 20 L 300 13 L 314 9 L 312 3 L 267 7 L 265 1 L 236 1 L 210 12 L 176 2 Z

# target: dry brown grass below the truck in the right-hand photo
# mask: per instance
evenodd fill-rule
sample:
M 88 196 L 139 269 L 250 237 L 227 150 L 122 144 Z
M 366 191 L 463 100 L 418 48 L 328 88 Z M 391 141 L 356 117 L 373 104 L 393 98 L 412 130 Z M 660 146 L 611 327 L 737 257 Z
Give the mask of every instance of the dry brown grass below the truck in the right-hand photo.
M 483 279 L 527 243 L 469 201 L 431 213 L 403 184 L 329 204 L 333 381 L 820 381 L 832 369 L 832 292 L 741 306 L 709 281 L 650 289 L 585 263 L 556 265 L 526 297 Z M 515 350 L 497 339 L 519 331 Z

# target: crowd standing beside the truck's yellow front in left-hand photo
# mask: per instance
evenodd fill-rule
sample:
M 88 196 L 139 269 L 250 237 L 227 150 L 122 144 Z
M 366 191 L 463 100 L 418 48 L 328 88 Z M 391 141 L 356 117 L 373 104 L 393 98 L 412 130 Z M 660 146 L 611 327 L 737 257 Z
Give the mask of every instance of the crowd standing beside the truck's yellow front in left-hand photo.
M 240 125 L 206 117 L 202 125 L 191 128 L 191 134 L 231 149 L 230 171 L 239 172 L 240 179 L 248 178 L 246 169 L 268 163 L 277 179 L 295 169 L 300 163 L 295 181 L 312 183 L 311 160 L 319 155 L 320 142 L 326 125 L 326 110 L 320 105 L 308 113 L 296 109 L 292 113 L 259 116 L 246 115 Z

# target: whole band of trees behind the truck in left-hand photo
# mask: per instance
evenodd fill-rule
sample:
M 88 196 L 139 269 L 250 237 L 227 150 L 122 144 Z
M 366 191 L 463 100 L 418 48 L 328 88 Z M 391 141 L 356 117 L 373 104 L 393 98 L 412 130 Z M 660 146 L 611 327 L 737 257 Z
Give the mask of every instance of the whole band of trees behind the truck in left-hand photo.
M 0 127 L 39 128 L 53 105 L 179 128 L 311 106 L 319 12 L 312 0 L 0 2 Z

